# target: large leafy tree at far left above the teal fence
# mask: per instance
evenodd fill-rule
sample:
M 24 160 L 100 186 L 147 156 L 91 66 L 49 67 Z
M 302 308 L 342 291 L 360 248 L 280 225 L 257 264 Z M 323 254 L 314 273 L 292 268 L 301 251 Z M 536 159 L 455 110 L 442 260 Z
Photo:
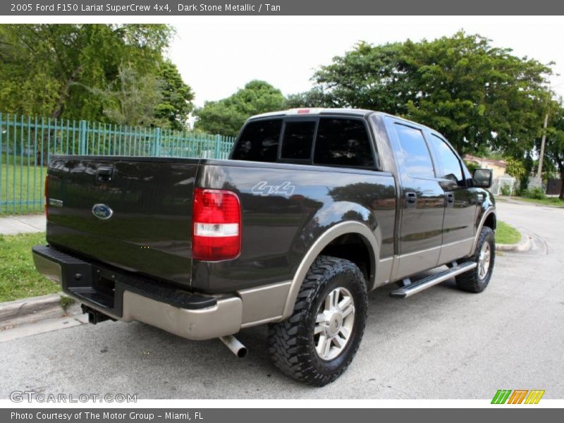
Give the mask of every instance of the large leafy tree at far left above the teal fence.
M 97 90 L 122 63 L 157 73 L 171 34 L 167 25 L 0 25 L 0 102 L 12 113 L 103 118 Z

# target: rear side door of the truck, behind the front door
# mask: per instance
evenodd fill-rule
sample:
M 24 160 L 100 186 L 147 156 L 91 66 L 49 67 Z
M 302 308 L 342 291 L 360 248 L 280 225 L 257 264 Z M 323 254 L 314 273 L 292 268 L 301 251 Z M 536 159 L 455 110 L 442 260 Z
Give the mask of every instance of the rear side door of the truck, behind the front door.
M 399 263 L 396 278 L 437 266 L 441 254 L 445 191 L 422 128 L 388 118 L 386 125 L 401 182 Z

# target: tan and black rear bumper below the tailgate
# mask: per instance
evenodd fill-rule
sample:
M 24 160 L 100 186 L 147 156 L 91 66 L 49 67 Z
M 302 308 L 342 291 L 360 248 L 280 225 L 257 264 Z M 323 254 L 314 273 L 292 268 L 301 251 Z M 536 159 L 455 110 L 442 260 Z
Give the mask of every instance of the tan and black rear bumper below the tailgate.
M 76 259 L 51 247 L 33 247 L 35 268 L 88 307 L 121 321 L 142 321 L 183 338 L 204 340 L 237 333 L 243 302 L 237 296 L 216 298 L 136 281 L 132 276 Z M 114 286 L 97 286 L 108 276 Z

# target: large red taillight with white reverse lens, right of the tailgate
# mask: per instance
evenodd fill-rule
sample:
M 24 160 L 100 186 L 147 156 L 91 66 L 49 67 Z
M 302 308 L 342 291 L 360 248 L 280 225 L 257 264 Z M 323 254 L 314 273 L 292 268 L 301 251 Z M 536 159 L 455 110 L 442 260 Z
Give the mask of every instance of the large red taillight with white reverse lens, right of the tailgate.
M 214 262 L 241 251 L 241 207 L 231 191 L 196 188 L 192 203 L 192 258 Z

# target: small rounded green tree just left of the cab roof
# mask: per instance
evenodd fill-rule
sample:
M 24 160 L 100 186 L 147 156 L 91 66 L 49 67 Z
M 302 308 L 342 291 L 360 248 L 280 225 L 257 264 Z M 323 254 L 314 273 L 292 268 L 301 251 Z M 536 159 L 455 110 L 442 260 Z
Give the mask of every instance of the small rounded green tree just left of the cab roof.
M 254 114 L 284 109 L 286 99 L 268 82 L 252 80 L 241 90 L 218 102 L 206 102 L 195 111 L 195 128 L 207 133 L 235 136 Z

